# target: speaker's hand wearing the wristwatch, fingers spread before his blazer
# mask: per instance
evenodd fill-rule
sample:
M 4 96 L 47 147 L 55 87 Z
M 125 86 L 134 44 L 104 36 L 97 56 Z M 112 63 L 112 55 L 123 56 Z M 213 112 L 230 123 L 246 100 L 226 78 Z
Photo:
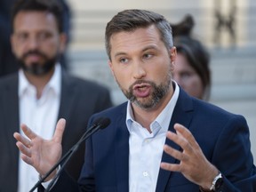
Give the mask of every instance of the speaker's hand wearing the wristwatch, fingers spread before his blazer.
M 182 151 L 164 145 L 164 151 L 180 161 L 180 164 L 161 163 L 161 168 L 181 172 L 188 180 L 203 188 L 210 188 L 218 170 L 204 156 L 194 136 L 181 124 L 174 124 L 176 133 L 167 132 L 167 138 L 182 148 Z

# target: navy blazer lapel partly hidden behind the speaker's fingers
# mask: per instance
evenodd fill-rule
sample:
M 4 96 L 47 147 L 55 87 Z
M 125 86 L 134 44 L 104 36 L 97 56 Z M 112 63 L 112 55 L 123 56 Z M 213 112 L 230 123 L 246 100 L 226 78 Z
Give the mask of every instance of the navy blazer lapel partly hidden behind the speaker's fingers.
M 175 132 L 173 125 L 176 123 L 182 124 L 188 128 L 188 125 L 190 124 L 190 121 L 192 119 L 193 114 L 193 106 L 192 106 L 192 100 L 191 98 L 185 93 L 182 89 L 180 89 L 180 95 L 179 99 L 177 100 L 176 106 L 174 108 L 174 111 L 172 113 L 172 119 L 171 123 L 169 125 L 169 131 Z M 180 149 L 178 145 L 176 145 L 171 140 L 165 140 L 165 144 L 168 146 Z M 166 153 L 163 153 L 162 156 L 162 162 L 166 162 L 169 164 L 174 164 L 176 162 L 176 159 L 172 156 L 167 155 Z M 157 184 L 156 184 L 156 191 L 165 191 L 165 188 L 167 187 L 168 180 L 171 176 L 172 172 L 165 171 L 160 168 Z

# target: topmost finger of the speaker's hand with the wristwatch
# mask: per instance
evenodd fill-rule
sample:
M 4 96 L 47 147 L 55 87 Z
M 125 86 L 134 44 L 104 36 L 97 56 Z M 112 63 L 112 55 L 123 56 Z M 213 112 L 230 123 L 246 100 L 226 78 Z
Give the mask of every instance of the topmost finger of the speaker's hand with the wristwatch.
M 182 137 L 184 137 L 186 140 L 188 140 L 188 143 L 192 146 L 192 148 L 198 148 L 196 139 L 194 138 L 192 133 L 189 132 L 188 128 L 186 128 L 182 124 L 174 124 L 174 129 L 176 130 L 178 135 L 182 135 Z

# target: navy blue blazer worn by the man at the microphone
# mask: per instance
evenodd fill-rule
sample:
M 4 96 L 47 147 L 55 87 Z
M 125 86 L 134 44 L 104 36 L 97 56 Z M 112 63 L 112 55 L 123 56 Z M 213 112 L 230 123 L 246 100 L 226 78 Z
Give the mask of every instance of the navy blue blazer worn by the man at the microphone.
M 111 124 L 96 132 L 86 142 L 85 163 L 78 180 L 80 191 L 129 191 L 129 132 L 125 124 L 126 106 L 127 102 L 100 112 L 90 119 L 92 124 L 98 117 L 106 116 L 111 120 Z M 172 132 L 175 123 L 183 124 L 192 132 L 204 156 L 224 175 L 222 191 L 256 190 L 256 170 L 253 165 L 249 129 L 243 116 L 196 100 L 180 89 L 169 126 Z M 170 140 L 165 143 L 172 148 L 180 148 Z M 162 161 L 176 162 L 172 156 L 165 153 Z M 53 191 L 78 191 L 76 184 L 68 182 L 66 176 L 60 176 Z M 199 186 L 187 180 L 180 172 L 160 169 L 156 191 L 198 192 Z

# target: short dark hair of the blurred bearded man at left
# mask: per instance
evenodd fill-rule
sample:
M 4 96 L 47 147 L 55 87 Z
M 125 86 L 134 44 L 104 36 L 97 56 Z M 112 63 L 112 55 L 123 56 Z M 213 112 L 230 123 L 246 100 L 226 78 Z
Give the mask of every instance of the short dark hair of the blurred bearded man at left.
M 55 16 L 60 33 L 63 32 L 63 9 L 58 0 L 17 0 L 12 7 L 12 32 L 16 15 L 19 12 L 50 12 Z

